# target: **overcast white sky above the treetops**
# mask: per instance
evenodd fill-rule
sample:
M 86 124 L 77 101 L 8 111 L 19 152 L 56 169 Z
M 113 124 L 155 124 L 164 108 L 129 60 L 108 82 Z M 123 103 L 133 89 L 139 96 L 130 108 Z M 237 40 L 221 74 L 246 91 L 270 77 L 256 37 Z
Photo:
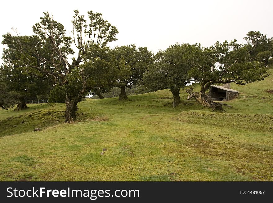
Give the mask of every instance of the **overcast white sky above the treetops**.
M 39 22 L 44 11 L 62 23 L 71 35 L 73 10 L 81 15 L 87 11 L 102 13 L 119 30 L 118 40 L 110 47 L 136 44 L 147 46 L 156 53 L 169 45 L 179 43 L 201 43 L 213 45 L 217 40 L 237 39 L 244 43 L 249 31 L 260 31 L 273 36 L 272 0 L 229 0 L 229 1 L 2 1 L 0 8 L 1 33 L 32 35 L 32 25 Z M 0 45 L 0 55 L 2 48 Z M 2 60 L 1 60 L 2 63 Z

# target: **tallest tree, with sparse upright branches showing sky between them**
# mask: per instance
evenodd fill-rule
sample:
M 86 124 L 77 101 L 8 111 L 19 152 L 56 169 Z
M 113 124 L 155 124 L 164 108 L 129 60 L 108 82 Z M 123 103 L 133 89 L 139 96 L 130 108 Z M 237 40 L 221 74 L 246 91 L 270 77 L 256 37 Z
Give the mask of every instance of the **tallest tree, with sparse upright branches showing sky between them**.
M 61 23 L 53 20 L 48 12 L 44 13 L 44 17 L 40 18 L 41 21 L 33 26 L 35 35 L 32 37 L 37 39 L 38 43 L 29 45 L 30 53 L 35 57 L 29 56 L 29 52 L 21 46 L 20 40 L 7 43 L 10 49 L 11 46 L 18 47 L 24 67 L 35 69 L 43 76 L 53 77 L 52 81 L 55 84 L 67 85 L 67 88 L 64 88 L 68 91 L 65 100 L 65 122 L 75 120 L 77 104 L 88 91 L 85 84 L 89 75 L 84 75 L 84 71 L 79 68 L 87 50 L 91 46 L 105 47 L 108 42 L 117 40 L 115 35 L 118 33 L 117 28 L 104 20 L 100 13 L 88 11 L 89 23 L 83 15 L 79 15 L 78 10 L 74 13 L 73 39 L 65 35 L 66 30 Z M 73 42 L 77 57 L 72 58 L 72 62 L 69 63 L 69 56 L 75 53 L 71 48 Z M 76 85 L 76 88 L 71 84 Z

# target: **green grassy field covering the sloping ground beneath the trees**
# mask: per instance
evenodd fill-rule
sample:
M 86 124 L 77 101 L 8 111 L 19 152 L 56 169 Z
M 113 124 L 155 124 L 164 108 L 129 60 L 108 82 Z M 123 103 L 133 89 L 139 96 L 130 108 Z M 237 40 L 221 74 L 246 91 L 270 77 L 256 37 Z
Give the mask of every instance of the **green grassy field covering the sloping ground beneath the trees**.
M 226 113 L 184 90 L 177 108 L 168 90 L 87 99 L 72 124 L 65 104 L 1 109 L 0 180 L 273 181 L 272 84 L 232 84 L 240 94 Z

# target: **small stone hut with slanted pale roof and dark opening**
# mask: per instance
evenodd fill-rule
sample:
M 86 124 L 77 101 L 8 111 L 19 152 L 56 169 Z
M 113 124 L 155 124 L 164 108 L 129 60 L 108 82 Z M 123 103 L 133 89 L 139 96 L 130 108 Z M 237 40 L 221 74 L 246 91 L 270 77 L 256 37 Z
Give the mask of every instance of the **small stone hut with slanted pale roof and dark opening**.
M 227 101 L 239 95 L 239 91 L 230 89 L 230 83 L 223 86 L 211 85 L 209 88 L 208 97 L 212 101 Z

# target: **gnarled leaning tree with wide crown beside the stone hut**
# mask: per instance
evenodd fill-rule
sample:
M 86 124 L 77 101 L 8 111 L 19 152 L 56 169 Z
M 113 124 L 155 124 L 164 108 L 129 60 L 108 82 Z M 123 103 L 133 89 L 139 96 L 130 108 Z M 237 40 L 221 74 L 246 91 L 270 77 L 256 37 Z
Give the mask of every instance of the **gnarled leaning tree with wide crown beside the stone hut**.
M 210 48 L 192 45 L 190 59 L 194 65 L 188 74 L 200 83 L 201 90 L 193 92 L 192 88 L 186 89 L 190 94 L 188 99 L 195 98 L 204 107 L 223 110 L 221 104 L 209 100 L 205 94 L 211 85 L 229 82 L 245 85 L 268 76 L 264 66 L 250 61 L 250 57 L 248 47 L 237 44 L 236 40 L 230 43 L 224 41 L 223 44 L 216 42 Z

